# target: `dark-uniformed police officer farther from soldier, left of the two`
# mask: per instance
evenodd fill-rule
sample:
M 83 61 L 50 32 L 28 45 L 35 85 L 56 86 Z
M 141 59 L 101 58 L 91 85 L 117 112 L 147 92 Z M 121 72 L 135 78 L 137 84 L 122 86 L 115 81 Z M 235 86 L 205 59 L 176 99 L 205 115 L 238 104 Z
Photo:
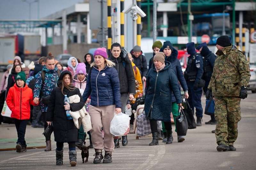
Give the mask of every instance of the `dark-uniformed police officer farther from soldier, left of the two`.
M 190 42 L 186 45 L 188 57 L 187 68 L 184 73 L 185 80 L 188 85 L 188 103 L 192 110 L 196 108 L 196 126 L 202 126 L 203 108 L 201 104 L 202 88 L 204 87 L 204 80 L 202 76 L 204 73 L 203 57 L 196 53 L 195 43 Z

